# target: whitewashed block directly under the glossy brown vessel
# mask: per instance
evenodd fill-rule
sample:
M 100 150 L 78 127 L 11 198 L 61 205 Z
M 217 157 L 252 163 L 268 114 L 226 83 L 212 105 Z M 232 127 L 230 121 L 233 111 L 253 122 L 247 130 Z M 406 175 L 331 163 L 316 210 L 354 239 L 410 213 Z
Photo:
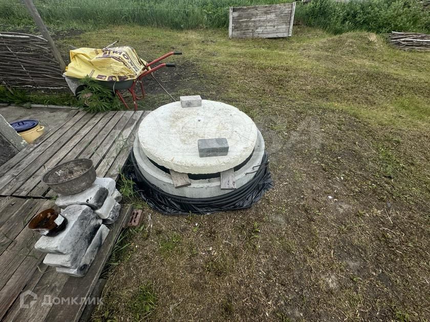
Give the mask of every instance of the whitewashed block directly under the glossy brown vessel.
M 71 254 L 82 233 L 97 216 L 86 205 L 74 204 L 61 212 L 67 218 L 66 228 L 57 236 L 42 236 L 34 248 L 52 254 Z

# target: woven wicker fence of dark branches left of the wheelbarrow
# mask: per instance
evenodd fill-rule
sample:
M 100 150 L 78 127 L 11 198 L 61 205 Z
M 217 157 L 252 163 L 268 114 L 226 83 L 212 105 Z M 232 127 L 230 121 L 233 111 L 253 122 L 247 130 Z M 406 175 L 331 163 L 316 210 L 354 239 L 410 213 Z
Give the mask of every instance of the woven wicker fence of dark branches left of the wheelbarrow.
M 0 32 L 0 85 L 10 88 L 68 88 L 48 41 L 40 36 Z

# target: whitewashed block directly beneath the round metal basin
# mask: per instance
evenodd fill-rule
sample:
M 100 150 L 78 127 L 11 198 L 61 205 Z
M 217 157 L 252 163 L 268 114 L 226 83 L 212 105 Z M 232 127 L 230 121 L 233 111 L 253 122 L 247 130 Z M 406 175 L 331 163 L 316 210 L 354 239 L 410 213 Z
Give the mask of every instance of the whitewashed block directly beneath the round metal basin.
M 106 188 L 92 185 L 90 188 L 74 195 L 66 196 L 59 194 L 57 200 L 55 200 L 55 204 L 62 209 L 72 204 L 84 204 L 90 206 L 92 209 L 99 209 L 108 194 L 109 191 Z

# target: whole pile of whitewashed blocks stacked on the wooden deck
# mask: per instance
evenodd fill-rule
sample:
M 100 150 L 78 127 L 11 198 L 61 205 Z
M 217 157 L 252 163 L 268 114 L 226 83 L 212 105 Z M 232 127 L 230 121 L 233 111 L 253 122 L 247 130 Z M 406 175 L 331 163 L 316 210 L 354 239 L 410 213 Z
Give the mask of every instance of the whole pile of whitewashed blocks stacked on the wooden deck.
M 67 218 L 64 231 L 55 237 L 42 236 L 35 248 L 47 252 L 44 263 L 58 272 L 82 277 L 97 255 L 109 228 L 121 210 L 121 194 L 115 180 L 96 178 L 88 189 L 73 195 L 59 195 L 55 204 Z

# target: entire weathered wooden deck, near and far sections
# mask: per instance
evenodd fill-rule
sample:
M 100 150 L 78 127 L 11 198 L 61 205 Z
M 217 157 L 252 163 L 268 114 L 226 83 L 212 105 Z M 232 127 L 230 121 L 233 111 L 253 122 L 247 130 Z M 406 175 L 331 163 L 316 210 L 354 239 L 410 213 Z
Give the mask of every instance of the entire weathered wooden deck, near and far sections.
M 87 275 L 68 277 L 42 263 L 45 254 L 33 247 L 39 235 L 26 227 L 40 210 L 55 208 L 49 199 L 55 193 L 40 179 L 46 169 L 83 157 L 93 160 L 98 176 L 117 179 L 144 116 L 143 111 L 74 110 L 62 125 L 0 167 L 0 320 L 79 320 L 132 209 L 123 207 L 109 226 L 111 232 Z M 30 291 L 37 296 L 35 302 Z M 61 300 L 65 302 L 58 303 Z

